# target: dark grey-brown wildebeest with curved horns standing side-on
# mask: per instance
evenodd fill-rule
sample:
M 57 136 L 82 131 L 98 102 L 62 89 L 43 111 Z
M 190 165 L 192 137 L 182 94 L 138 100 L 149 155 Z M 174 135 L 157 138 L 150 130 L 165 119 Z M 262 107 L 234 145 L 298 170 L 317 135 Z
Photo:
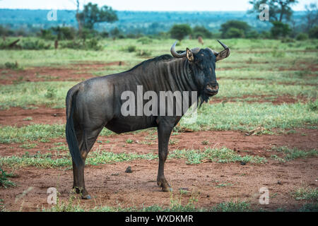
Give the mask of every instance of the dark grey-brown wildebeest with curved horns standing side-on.
M 220 42 L 220 41 L 218 41 Z M 189 49 L 176 52 L 175 44 L 170 52 L 148 59 L 129 71 L 90 78 L 74 85 L 66 96 L 66 140 L 73 162 L 73 188 L 84 199 L 90 198 L 84 182 L 86 157 L 104 127 L 115 133 L 124 133 L 157 127 L 159 167 L 157 184 L 169 191 L 164 166 L 172 129 L 181 116 L 150 115 L 123 116 L 121 95 L 126 90 L 137 94 L 137 86 L 154 93 L 160 91 L 197 92 L 196 102 L 206 102 L 218 93 L 216 61 L 225 59 L 230 49 L 220 42 L 223 51 Z M 158 105 L 158 107 L 160 107 Z

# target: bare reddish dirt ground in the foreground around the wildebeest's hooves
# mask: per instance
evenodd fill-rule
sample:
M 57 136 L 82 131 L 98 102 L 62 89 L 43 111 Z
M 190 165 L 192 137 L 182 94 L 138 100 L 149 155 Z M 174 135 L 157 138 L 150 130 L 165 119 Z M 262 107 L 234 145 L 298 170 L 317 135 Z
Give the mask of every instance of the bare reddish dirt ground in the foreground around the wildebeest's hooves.
M 1 116 L 6 111 L 1 112 Z M 11 121 L 11 125 L 22 126 L 23 117 L 33 117 L 33 123 L 64 123 L 64 109 L 17 109 L 17 121 L 8 115 L 3 121 Z M 57 114 L 56 117 L 52 116 Z M 37 117 L 38 116 L 38 117 Z M 27 121 L 28 122 L 28 121 Z M 179 197 L 179 189 L 189 190 L 189 194 L 182 195 L 182 203 L 186 204 L 192 194 L 199 193 L 197 207 L 211 208 L 217 203 L 225 201 L 249 201 L 255 209 L 276 210 L 285 208 L 295 210 L 306 201 L 296 201 L 291 192 L 302 186 L 312 188 L 318 186 L 318 158 L 298 159 L 291 162 L 279 163 L 271 159 L 273 145 L 287 145 L 302 150 L 318 148 L 318 131 L 312 129 L 295 129 L 294 133 L 278 135 L 246 136 L 240 131 L 200 131 L 177 133 L 171 137 L 170 151 L 175 149 L 201 149 L 206 147 L 228 147 L 240 155 L 258 155 L 266 157 L 265 164 L 240 165 L 237 163 L 204 162 L 199 165 L 187 165 L 185 160 L 167 160 L 165 175 L 174 189 L 174 197 Z M 131 139 L 133 143 L 126 143 Z M 102 143 L 95 143 L 93 150 L 100 146 L 101 150 L 112 150 L 114 153 L 157 153 L 158 141 L 155 131 L 141 131 L 121 135 L 102 136 L 98 138 Z M 107 141 L 108 143 L 106 143 Z M 1 144 L 0 155 L 23 155 L 28 151 L 31 155 L 40 151 L 49 152 L 54 143 L 64 139 L 54 139 L 50 143 L 37 143 L 37 147 L 26 150 L 20 144 Z M 52 151 L 51 151 L 52 152 Z M 66 151 L 65 151 L 66 152 Z M 276 153 L 275 153 L 276 154 Z M 126 167 L 131 166 L 133 172 L 125 173 Z M 11 169 L 6 169 L 11 172 Z M 134 160 L 131 162 L 116 162 L 113 164 L 87 166 L 86 186 L 93 199 L 81 201 L 81 206 L 93 208 L 95 206 L 169 206 L 170 194 L 160 191 L 156 185 L 158 160 Z M 49 208 L 47 204 L 47 189 L 56 187 L 63 201 L 69 199 L 69 192 L 73 183 L 71 169 L 39 169 L 23 167 L 15 169 L 17 177 L 10 178 L 18 186 L 0 188 L 0 199 L 4 200 L 7 210 L 33 211 L 37 208 Z M 229 184 L 218 187 L 218 184 Z M 269 188 L 270 203 L 267 206 L 259 204 L 259 189 Z M 25 196 L 23 191 L 31 188 Z

